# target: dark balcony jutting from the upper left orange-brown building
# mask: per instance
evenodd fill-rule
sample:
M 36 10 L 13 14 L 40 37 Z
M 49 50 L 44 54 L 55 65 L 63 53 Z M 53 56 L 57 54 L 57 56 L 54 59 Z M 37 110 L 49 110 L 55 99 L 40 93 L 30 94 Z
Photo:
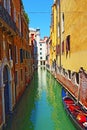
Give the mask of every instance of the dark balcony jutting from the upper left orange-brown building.
M 3 31 L 15 34 L 17 32 L 16 24 L 12 20 L 6 9 L 0 4 L 0 27 L 3 27 Z

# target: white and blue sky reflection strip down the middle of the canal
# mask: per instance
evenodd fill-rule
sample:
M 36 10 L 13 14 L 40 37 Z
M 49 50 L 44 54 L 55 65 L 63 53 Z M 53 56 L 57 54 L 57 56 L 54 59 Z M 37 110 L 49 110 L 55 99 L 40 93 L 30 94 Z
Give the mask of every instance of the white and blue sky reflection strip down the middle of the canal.
M 37 95 L 39 100 L 35 100 L 35 109 L 32 110 L 31 114 L 34 130 L 51 130 L 54 127 L 53 121 L 51 120 L 52 107 L 47 102 L 46 73 L 44 69 L 38 69 Z

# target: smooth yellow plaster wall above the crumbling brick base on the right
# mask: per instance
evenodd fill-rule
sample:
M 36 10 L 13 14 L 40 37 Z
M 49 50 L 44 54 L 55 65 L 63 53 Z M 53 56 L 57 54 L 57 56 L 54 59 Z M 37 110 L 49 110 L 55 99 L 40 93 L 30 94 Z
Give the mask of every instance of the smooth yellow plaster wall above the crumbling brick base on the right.
M 64 12 L 64 54 L 61 64 L 65 69 L 87 70 L 87 0 L 62 0 L 61 12 Z M 66 37 L 70 35 L 70 52 L 66 57 Z

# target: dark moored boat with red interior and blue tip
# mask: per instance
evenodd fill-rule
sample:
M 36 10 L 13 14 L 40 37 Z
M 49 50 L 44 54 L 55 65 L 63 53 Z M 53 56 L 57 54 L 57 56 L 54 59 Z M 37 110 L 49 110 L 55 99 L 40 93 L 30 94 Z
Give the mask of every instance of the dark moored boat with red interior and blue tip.
M 64 88 L 62 89 L 62 101 L 76 128 L 78 130 L 87 130 L 87 112 Z

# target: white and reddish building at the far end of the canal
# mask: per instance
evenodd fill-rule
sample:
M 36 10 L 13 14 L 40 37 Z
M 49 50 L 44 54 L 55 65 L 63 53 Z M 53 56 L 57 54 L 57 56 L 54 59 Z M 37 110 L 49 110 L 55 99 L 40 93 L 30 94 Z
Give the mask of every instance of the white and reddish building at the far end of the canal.
M 30 44 L 33 46 L 33 67 L 36 69 L 38 66 L 46 65 L 46 40 L 40 38 L 40 29 L 29 28 L 29 40 Z

